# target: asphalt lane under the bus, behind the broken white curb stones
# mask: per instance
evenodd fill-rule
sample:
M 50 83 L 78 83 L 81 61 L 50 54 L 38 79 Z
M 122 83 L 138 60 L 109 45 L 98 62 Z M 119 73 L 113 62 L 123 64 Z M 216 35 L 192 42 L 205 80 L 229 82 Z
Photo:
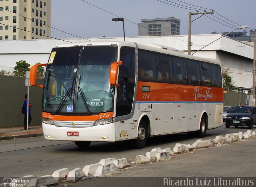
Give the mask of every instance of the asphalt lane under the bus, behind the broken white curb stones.
M 252 130 L 255 130 L 256 127 Z M 218 135 L 246 132 L 248 128 L 225 126 L 208 130 L 203 140 L 214 139 Z M 152 148 L 174 148 L 175 144 L 193 144 L 197 139 L 186 133 L 158 136 L 151 138 L 146 148 L 131 148 L 130 142 L 95 143 L 89 148 L 78 148 L 73 142 L 47 141 L 43 137 L 6 140 L 0 142 L 0 177 L 23 177 L 34 175 L 52 175 L 61 168 L 72 170 L 76 167 L 98 163 L 100 159 L 114 157 L 116 159 L 134 159 L 137 155 L 146 154 Z

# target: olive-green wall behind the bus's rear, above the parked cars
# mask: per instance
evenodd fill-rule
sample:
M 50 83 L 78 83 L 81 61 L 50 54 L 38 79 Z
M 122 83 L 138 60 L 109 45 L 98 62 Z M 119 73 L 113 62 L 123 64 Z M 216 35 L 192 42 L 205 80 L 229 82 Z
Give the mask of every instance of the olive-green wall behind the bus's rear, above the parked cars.
M 239 102 L 240 97 L 240 102 Z M 239 96 L 239 93 L 227 91 L 227 93 L 224 93 L 224 106 L 238 106 L 240 103 L 243 105 L 246 104 L 246 94 L 241 93 Z M 250 105 L 250 103 L 249 103 Z

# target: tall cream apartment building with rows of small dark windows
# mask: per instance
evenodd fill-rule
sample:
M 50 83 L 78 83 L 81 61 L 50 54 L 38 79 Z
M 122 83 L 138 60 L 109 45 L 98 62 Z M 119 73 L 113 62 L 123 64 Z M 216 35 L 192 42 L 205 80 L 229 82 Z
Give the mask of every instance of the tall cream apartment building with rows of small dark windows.
M 48 39 L 51 0 L 0 0 L 0 40 Z

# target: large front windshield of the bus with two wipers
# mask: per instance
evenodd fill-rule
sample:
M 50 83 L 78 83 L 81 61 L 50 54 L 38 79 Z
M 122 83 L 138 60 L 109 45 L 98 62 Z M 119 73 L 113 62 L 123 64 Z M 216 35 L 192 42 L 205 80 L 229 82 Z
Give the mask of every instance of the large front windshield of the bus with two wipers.
M 46 69 L 43 111 L 51 114 L 98 114 L 113 111 L 110 64 L 116 46 L 54 48 Z

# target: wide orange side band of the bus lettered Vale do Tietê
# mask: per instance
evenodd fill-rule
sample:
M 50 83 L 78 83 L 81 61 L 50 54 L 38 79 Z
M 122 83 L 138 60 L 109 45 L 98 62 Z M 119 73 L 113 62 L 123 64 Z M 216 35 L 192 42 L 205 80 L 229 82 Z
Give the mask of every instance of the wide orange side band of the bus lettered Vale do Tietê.
M 142 87 L 150 87 L 143 92 Z M 223 102 L 223 88 L 138 81 L 136 102 Z

